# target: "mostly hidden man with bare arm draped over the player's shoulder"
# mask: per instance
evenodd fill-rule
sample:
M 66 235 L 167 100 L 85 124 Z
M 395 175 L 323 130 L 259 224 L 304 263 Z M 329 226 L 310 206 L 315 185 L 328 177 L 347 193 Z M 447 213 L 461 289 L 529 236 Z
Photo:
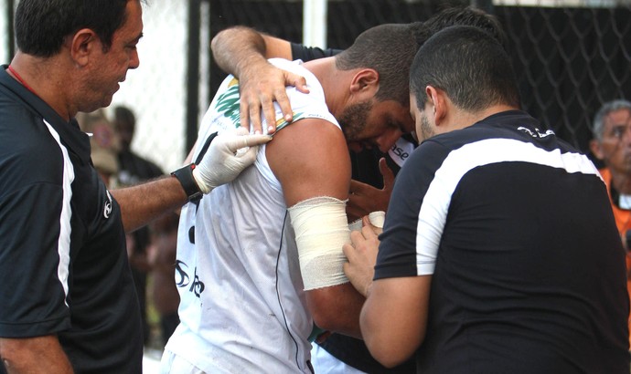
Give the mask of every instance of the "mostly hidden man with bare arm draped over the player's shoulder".
M 423 26 L 436 32 L 446 26 L 470 25 L 487 30 L 505 47 L 508 38 L 495 16 L 474 7 L 453 7 L 432 16 Z M 335 56 L 340 49 L 305 47 L 278 37 L 262 34 L 245 26 L 222 30 L 212 39 L 212 53 L 220 68 L 234 73 L 240 81 L 241 125 L 262 129 L 273 124 L 273 101 L 283 109 L 285 119 L 291 119 L 292 109 L 286 99 L 285 85 L 307 90 L 303 78 L 273 67 L 266 58 L 283 57 L 309 61 Z M 263 115 L 262 115 L 263 114 Z M 273 127 L 267 130 L 273 130 Z M 412 154 L 417 143 L 413 127 L 402 129 L 401 138 L 388 151 L 378 148 L 350 151 L 352 181 L 348 193 L 349 222 L 375 211 L 387 211 L 394 178 Z M 332 334 L 315 341 L 312 359 L 316 371 L 328 373 L 410 373 L 415 372 L 413 360 L 394 369 L 380 365 L 358 338 Z

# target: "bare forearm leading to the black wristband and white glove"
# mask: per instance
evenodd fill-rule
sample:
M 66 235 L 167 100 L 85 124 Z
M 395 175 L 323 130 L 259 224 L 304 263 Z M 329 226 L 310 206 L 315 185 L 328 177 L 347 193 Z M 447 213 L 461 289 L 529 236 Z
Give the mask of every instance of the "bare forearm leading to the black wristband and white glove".
M 170 176 L 113 190 L 112 195 L 121 206 L 126 233 L 131 233 L 161 214 L 175 211 L 187 203 L 187 194 L 182 184 Z

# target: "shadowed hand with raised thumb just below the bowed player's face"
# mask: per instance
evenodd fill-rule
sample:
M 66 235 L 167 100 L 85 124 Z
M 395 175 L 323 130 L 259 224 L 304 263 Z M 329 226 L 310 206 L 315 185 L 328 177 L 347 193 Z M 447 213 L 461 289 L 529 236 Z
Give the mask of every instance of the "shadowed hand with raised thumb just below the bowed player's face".
M 347 203 L 349 221 L 357 220 L 371 212 L 388 211 L 390 194 L 394 186 L 394 173 L 390 170 L 384 158 L 381 158 L 379 161 L 379 169 L 383 176 L 383 189 L 381 190 L 366 183 L 350 182 L 350 193 Z

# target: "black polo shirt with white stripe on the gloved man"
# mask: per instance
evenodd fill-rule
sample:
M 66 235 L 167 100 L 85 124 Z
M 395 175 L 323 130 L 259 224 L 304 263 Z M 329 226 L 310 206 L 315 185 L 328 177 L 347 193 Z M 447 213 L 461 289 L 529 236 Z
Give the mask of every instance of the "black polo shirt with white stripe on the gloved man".
M 92 167 L 88 135 L 5 68 L 0 337 L 57 335 L 75 372 L 141 373 L 141 324 L 121 212 Z

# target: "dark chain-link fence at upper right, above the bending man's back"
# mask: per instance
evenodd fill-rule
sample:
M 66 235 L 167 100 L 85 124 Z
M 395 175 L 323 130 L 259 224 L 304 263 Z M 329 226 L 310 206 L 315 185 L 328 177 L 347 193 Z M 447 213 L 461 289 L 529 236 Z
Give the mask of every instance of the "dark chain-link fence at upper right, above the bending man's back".
M 511 40 L 524 108 L 587 151 L 594 113 L 631 99 L 628 1 L 495 6 Z

